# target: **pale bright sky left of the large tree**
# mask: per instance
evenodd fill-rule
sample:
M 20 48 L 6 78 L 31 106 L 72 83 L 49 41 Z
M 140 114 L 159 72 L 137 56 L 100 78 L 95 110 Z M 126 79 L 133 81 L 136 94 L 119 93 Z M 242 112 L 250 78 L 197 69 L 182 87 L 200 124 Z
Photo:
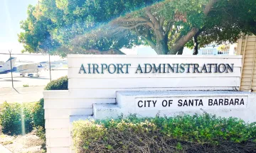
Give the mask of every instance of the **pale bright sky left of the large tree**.
M 0 53 L 21 53 L 23 45 L 18 42 L 18 33 L 21 33 L 20 22 L 27 17 L 29 4 L 36 5 L 38 0 L 0 0 Z M 45 61 L 46 56 L 16 55 L 18 60 L 33 62 Z M 33 58 L 31 58 L 33 57 Z M 53 57 L 58 60 L 59 57 Z M 8 55 L 0 55 L 0 61 L 8 60 Z

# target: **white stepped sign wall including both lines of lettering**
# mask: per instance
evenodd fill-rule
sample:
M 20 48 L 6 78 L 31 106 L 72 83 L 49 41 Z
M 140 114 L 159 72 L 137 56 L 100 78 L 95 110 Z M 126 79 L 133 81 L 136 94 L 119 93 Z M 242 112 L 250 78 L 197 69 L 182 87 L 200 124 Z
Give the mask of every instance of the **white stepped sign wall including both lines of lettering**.
M 250 106 L 246 94 L 219 96 L 216 102 L 218 106 L 213 100 L 216 98 L 215 94 L 210 97 L 204 97 L 202 94 L 187 94 L 181 97 L 174 94 L 117 98 L 119 91 L 239 90 L 241 66 L 242 57 L 235 55 L 68 55 L 68 91 L 43 92 L 47 151 L 70 152 L 70 120 L 87 118 L 90 115 L 106 117 L 110 107 L 116 112 L 112 113 L 114 117 L 119 113 L 132 113 L 139 109 L 142 115 L 146 115 L 145 112 L 149 110 L 156 113 L 163 110 L 163 113 L 168 113 L 181 112 L 183 108 L 192 109 L 191 113 L 198 113 L 200 108 L 213 108 L 213 113 L 223 108 L 246 109 Z M 122 101 L 128 99 L 131 100 L 125 103 L 133 107 L 127 107 L 129 110 L 125 110 Z M 191 99 L 193 102 L 189 101 Z M 196 102 L 195 99 L 202 99 L 202 102 Z M 213 100 L 213 106 L 209 106 L 210 99 Z M 228 106 L 225 99 L 228 99 Z M 230 102 L 231 99 L 233 102 Z M 172 100 L 168 106 L 170 109 L 162 106 L 164 100 L 167 101 L 167 106 L 169 100 Z M 157 102 L 154 108 L 152 103 L 149 107 L 139 108 L 142 105 L 139 101 Z M 179 106 L 179 103 L 182 103 L 182 106 Z M 198 106 L 191 106 L 192 103 L 198 103 Z M 203 103 L 203 106 L 199 106 L 199 103 Z

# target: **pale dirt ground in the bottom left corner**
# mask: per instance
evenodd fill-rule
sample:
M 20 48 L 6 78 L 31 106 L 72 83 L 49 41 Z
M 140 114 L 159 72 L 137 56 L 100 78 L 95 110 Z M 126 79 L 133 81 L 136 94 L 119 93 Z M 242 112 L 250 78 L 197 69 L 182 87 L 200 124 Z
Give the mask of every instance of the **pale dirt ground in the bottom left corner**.
M 36 136 L 36 132 L 26 135 L 9 136 L 0 134 L 0 143 L 11 152 L 17 153 L 41 153 L 43 141 Z

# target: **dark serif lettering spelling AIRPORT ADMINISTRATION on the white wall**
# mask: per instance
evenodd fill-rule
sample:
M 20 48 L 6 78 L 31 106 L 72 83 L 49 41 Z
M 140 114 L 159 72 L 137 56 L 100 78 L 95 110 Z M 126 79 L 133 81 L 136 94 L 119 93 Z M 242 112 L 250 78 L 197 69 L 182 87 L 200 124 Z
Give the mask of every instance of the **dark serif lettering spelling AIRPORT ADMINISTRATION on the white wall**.
M 79 74 L 129 74 L 131 64 L 81 64 Z M 138 64 L 135 74 L 149 73 L 230 73 L 234 64 Z

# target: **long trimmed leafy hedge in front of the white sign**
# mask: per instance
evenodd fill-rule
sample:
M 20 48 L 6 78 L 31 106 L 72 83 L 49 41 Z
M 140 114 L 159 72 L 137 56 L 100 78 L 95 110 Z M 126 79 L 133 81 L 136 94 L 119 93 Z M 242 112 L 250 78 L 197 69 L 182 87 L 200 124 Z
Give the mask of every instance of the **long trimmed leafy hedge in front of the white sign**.
M 256 152 L 256 123 L 215 115 L 80 120 L 76 152 Z

